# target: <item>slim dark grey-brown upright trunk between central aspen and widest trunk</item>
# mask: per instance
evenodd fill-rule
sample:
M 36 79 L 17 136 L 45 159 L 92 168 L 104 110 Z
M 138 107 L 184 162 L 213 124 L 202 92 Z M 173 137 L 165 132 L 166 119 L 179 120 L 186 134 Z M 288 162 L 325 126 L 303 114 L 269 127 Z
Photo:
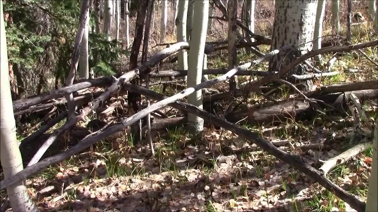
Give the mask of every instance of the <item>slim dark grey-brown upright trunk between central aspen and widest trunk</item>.
M 237 1 L 228 1 L 228 69 L 232 69 L 236 65 L 236 32 L 237 32 Z M 234 91 L 238 88 L 237 76 L 230 77 L 229 89 Z

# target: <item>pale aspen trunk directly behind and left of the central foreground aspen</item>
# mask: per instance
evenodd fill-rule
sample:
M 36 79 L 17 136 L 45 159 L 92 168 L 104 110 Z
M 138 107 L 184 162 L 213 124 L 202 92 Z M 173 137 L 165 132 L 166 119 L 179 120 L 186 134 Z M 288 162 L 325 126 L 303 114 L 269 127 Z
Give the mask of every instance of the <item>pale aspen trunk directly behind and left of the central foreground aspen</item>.
M 186 18 L 188 12 L 189 0 L 178 1 L 178 12 L 175 20 L 177 26 L 177 43 L 186 42 Z M 178 53 L 178 68 L 180 70 L 188 69 L 187 51 L 181 51 Z

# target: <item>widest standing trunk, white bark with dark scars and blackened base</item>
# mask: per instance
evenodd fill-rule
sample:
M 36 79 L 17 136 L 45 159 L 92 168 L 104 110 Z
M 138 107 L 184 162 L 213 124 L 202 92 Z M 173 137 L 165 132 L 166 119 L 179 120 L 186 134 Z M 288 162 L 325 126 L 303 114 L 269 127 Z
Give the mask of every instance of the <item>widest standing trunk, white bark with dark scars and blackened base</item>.
M 272 57 L 269 63 L 270 71 L 279 71 L 297 57 L 312 50 L 313 42 L 310 41 L 314 38 L 317 5 L 317 0 L 281 0 L 276 2 L 271 51 L 289 45 L 296 47 L 300 52 L 291 51 Z M 304 45 L 298 46 L 303 43 Z M 303 74 L 304 71 L 307 71 L 306 68 L 306 66 L 298 65 L 291 71 L 291 74 Z M 302 86 L 305 91 L 313 89 L 311 80 L 302 82 Z

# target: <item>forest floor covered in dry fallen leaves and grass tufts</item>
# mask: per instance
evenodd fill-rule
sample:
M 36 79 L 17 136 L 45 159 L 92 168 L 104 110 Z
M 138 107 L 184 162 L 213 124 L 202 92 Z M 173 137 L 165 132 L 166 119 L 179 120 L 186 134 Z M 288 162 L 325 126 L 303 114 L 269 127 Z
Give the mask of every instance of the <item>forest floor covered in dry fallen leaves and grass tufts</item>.
M 364 25 L 353 28 L 351 43 L 375 40 L 376 36 L 366 33 L 366 28 Z M 330 33 L 325 30 L 324 34 Z M 168 37 L 169 40 L 174 42 Z M 152 49 L 151 54 L 162 48 Z M 260 51 L 268 52 L 269 46 L 260 46 Z M 375 50 L 366 48 L 362 51 L 373 61 L 378 61 L 376 47 Z M 208 68 L 226 67 L 226 57 L 227 53 L 209 55 Z M 332 54 L 323 55 L 321 67 L 325 67 L 330 58 Z M 256 59 L 255 55 L 246 54 L 244 50 L 238 52 L 239 65 L 253 59 Z M 177 63 L 167 64 L 162 69 L 175 66 Z M 319 88 L 328 84 L 377 80 L 378 72 L 373 67 L 366 57 L 352 51 L 339 57 L 331 69 L 341 74 L 317 78 L 313 82 Z M 268 61 L 265 61 L 254 71 L 267 69 Z M 360 71 L 344 72 L 344 69 Z M 214 77 L 209 75 L 209 78 Z M 154 80 L 160 81 L 153 79 L 152 82 Z M 253 80 L 253 77 L 239 76 L 239 83 L 247 80 Z M 162 85 L 151 89 L 163 92 Z M 227 91 L 228 82 L 209 89 Z M 181 90 L 172 85 L 164 91 L 165 95 L 171 96 Z M 277 101 L 298 96 L 285 86 L 271 95 Z M 113 97 L 110 103 L 124 101 L 122 98 Z M 142 98 L 145 102 L 146 99 Z M 256 108 L 274 104 L 253 94 L 246 100 L 228 98 L 221 102 L 222 108 L 231 101 L 244 101 L 243 105 L 251 104 Z M 364 101 L 362 105 L 368 119 L 378 118 L 378 99 Z M 169 106 L 160 111 L 167 117 L 183 115 Z M 113 113 L 107 120 L 114 119 L 115 114 L 118 113 Z M 86 126 L 94 118 L 95 115 L 92 115 L 86 122 L 80 121 L 80 126 Z M 22 129 L 18 132 L 33 133 L 28 129 L 38 121 L 20 126 Z M 318 111 L 316 115 L 302 120 L 288 118 L 279 122 L 259 126 L 239 124 L 315 168 L 321 166 L 319 159 L 335 157 L 356 144 L 350 143 L 354 120 L 347 108 L 337 112 Z M 64 123 L 65 119 L 48 133 Z M 92 149 L 29 177 L 26 186 L 41 211 L 354 211 L 333 192 L 315 183 L 311 176 L 297 171 L 231 131 L 215 128 L 215 125 L 205 126 L 199 137 L 189 135 L 183 126 L 154 131 L 155 155 L 150 153 L 147 141 L 134 146 L 124 131 L 118 137 L 101 140 Z M 365 134 L 372 130 L 363 125 Z M 18 138 L 28 134 L 19 133 Z M 59 142 L 68 143 L 69 137 L 65 134 Z M 319 143 L 323 144 L 321 149 L 301 149 L 303 145 Z M 366 201 L 371 162 L 372 149 L 369 147 L 346 163 L 337 165 L 327 177 L 357 195 L 361 201 Z M 0 195 L 1 201 L 5 202 L 5 191 Z

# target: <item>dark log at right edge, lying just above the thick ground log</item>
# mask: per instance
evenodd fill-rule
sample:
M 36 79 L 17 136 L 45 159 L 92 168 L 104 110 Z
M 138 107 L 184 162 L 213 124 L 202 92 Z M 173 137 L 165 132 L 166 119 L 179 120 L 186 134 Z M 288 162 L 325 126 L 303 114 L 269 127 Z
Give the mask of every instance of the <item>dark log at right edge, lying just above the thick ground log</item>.
M 368 89 L 378 89 L 378 80 L 372 81 L 363 81 L 356 83 L 348 84 L 331 84 L 322 86 L 321 88 L 316 89 L 315 91 L 310 91 L 305 94 L 307 97 L 317 97 L 322 94 L 330 94 L 337 92 L 347 92 L 347 91 L 360 91 Z

